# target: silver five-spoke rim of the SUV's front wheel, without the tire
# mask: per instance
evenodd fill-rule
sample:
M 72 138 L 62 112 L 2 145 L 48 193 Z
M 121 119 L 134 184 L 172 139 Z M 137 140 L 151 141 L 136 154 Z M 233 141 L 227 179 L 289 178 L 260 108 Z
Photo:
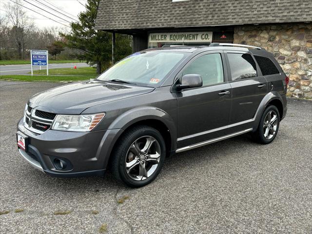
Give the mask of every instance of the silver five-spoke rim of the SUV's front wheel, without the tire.
M 139 137 L 128 149 L 125 169 L 134 180 L 144 180 L 152 176 L 161 156 L 158 141 L 151 136 Z

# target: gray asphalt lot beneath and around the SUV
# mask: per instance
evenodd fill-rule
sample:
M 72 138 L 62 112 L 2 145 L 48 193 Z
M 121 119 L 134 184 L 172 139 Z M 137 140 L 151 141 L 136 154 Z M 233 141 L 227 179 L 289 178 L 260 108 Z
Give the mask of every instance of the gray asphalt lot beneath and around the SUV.
M 0 215 L 0 233 L 96 234 L 102 224 L 109 234 L 312 233 L 311 101 L 289 101 L 270 145 L 240 136 L 183 152 L 156 181 L 128 189 L 110 174 L 46 176 L 20 157 L 15 131 L 25 102 L 57 85 L 0 82 L 0 210 L 10 211 Z

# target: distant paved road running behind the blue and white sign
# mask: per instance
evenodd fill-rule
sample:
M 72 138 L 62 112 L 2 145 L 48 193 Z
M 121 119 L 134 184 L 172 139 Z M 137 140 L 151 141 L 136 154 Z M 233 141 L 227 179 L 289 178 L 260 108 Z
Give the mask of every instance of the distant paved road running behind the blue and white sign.
M 88 67 L 88 64 L 85 62 L 78 63 L 51 63 L 49 64 L 49 69 L 52 68 L 73 68 L 76 64 L 77 67 Z M 34 70 L 39 70 L 39 66 L 34 66 Z M 46 70 L 46 66 L 41 66 L 42 70 Z M 28 74 L 31 71 L 30 64 L 24 65 L 1 65 L 0 66 L 0 75 L 23 75 Z

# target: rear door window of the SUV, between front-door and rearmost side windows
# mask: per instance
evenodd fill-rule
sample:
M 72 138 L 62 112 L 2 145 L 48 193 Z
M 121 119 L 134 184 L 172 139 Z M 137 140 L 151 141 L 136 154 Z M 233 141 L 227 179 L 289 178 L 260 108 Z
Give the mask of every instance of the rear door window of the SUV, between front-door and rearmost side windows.
M 246 79 L 257 76 L 254 59 L 249 54 L 228 53 L 232 80 Z

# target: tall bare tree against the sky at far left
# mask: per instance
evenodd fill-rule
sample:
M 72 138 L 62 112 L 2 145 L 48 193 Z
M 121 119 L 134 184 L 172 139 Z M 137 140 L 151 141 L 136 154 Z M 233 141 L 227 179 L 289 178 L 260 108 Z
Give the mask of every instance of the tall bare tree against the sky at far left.
M 22 5 L 20 0 L 17 0 L 16 2 Z M 24 59 L 26 48 L 25 37 L 32 29 L 34 23 L 33 20 L 30 20 L 26 11 L 19 4 L 7 2 L 4 4 L 4 9 L 9 22 L 12 24 L 10 33 L 18 50 L 19 59 Z

